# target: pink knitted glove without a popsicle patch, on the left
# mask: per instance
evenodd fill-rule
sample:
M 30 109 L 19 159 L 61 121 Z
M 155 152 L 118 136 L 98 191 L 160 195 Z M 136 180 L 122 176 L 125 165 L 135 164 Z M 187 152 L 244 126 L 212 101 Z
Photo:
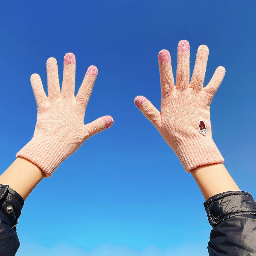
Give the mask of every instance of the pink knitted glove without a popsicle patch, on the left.
M 33 138 L 16 157 L 36 164 L 50 177 L 57 167 L 71 156 L 92 135 L 113 124 L 111 116 L 103 116 L 84 125 L 85 109 L 98 70 L 90 66 L 75 97 L 76 58 L 71 52 L 64 57 L 63 82 L 60 92 L 58 66 L 55 58 L 46 62 L 48 97 L 38 74 L 31 76 L 37 104 L 37 121 Z

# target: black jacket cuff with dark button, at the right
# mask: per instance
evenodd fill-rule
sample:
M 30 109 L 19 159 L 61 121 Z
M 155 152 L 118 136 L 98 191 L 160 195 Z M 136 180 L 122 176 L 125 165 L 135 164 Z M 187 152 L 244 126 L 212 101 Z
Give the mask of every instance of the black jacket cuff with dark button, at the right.
M 256 202 L 245 191 L 227 191 L 210 197 L 204 208 L 211 226 L 230 217 L 243 214 L 256 214 Z

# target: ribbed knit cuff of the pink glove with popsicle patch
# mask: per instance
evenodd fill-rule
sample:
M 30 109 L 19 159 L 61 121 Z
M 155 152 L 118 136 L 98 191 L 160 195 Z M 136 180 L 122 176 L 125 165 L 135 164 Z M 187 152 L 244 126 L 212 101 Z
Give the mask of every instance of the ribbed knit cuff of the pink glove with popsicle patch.
M 212 137 L 199 134 L 191 138 L 184 137 L 176 144 L 173 151 L 178 156 L 186 172 L 207 164 L 219 164 L 224 162 L 219 149 Z

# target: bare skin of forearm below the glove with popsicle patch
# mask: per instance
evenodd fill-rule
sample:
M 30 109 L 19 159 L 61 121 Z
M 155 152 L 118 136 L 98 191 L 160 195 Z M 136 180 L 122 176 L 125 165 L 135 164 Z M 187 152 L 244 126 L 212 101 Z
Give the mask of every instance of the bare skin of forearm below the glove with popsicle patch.
M 222 192 L 240 190 L 223 164 L 199 166 L 191 173 L 205 200 Z

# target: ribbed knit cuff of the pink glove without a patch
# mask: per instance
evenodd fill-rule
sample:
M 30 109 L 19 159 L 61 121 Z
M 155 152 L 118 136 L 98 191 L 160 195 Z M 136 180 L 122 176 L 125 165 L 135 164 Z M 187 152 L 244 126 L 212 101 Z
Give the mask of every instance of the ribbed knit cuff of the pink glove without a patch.
M 36 164 L 46 175 L 50 177 L 57 167 L 68 157 L 66 146 L 61 144 L 60 138 L 33 137 L 16 157 L 23 157 Z

